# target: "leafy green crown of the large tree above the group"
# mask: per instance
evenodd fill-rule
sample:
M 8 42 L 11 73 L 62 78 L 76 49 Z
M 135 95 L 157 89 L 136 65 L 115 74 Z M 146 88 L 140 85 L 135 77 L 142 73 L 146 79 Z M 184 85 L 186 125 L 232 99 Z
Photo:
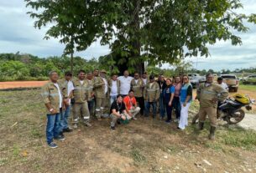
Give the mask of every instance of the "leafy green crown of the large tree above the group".
M 60 38 L 65 53 L 86 50 L 97 39 L 109 45 L 112 65 L 131 71 L 174 63 L 191 56 L 208 56 L 217 40 L 242 40 L 243 22 L 256 15 L 236 13 L 239 0 L 25 0 L 35 28 L 50 24 L 45 38 Z M 104 60 L 102 60 L 104 61 Z M 105 60 L 106 61 L 106 60 Z

